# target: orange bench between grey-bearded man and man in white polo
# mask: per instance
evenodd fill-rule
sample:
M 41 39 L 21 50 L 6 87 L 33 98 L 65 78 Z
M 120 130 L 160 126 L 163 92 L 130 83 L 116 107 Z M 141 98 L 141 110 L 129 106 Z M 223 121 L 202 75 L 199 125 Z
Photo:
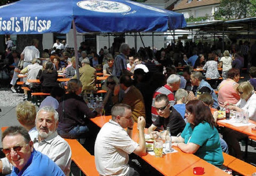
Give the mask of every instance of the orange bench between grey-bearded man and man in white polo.
M 86 176 L 98 176 L 95 158 L 76 139 L 65 139 L 71 148 L 71 160 L 76 163 Z

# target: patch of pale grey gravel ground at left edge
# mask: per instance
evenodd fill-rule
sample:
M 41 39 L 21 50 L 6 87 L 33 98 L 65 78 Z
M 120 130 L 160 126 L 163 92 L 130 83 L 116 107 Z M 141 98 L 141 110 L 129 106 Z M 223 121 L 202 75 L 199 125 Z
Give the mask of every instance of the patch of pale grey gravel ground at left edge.
M 24 94 L 13 93 L 10 88 L 0 90 L 0 106 L 17 106 Z

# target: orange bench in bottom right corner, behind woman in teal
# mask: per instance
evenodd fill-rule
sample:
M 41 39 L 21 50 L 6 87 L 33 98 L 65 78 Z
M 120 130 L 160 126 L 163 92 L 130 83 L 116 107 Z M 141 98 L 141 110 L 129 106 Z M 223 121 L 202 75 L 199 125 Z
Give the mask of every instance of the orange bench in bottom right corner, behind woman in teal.
M 245 176 L 250 176 L 254 172 L 256 172 L 255 166 L 252 166 L 251 164 L 248 164 L 247 162 L 239 160 L 238 158 L 235 158 L 234 156 L 231 156 L 224 152 L 222 152 L 222 154 L 224 157 L 223 165 L 234 170 L 235 172 L 238 172 L 239 174 L 242 174 Z

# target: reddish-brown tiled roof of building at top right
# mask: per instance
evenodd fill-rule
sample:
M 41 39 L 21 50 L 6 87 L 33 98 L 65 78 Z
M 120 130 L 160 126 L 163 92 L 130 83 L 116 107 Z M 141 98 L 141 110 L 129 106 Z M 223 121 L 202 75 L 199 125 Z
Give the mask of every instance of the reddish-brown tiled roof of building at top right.
M 213 4 L 220 4 L 220 0 L 192 0 L 191 2 L 188 2 L 188 0 L 182 0 L 179 4 L 174 6 L 173 10 L 175 11 L 199 6 L 209 6 Z

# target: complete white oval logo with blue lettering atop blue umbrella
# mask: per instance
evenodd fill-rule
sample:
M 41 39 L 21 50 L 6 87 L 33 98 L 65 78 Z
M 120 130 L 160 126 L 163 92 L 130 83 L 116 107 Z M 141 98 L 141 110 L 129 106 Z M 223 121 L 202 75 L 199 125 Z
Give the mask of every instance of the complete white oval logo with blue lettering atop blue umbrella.
M 77 6 L 86 10 L 106 13 L 124 13 L 131 10 L 130 6 L 126 4 L 107 0 L 85 0 L 78 2 Z

